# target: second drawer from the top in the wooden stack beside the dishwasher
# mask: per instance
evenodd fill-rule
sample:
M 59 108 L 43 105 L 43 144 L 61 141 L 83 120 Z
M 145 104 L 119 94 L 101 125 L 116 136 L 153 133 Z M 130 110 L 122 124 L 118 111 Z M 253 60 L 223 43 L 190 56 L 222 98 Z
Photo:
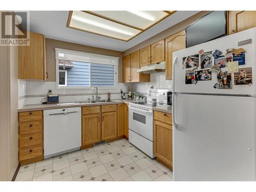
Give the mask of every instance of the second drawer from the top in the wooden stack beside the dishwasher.
M 42 121 L 30 122 L 19 125 L 19 135 L 42 132 Z

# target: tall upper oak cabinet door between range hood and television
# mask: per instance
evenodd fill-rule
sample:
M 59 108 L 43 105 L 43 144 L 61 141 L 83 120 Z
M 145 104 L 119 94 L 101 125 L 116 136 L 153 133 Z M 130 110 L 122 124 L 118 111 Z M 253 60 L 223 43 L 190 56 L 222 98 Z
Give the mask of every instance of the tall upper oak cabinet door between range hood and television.
M 186 48 L 186 32 L 181 31 L 165 38 L 165 79 L 172 80 L 173 52 Z

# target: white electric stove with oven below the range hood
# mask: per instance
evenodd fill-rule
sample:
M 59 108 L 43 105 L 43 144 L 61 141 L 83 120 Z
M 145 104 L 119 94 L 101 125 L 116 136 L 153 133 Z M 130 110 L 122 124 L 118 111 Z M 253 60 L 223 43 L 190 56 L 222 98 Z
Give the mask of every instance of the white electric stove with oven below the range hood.
M 167 104 L 168 89 L 148 89 L 146 101 L 135 101 L 129 104 L 129 142 L 138 147 L 151 158 L 153 152 L 153 107 Z M 152 103 L 152 99 L 157 102 Z

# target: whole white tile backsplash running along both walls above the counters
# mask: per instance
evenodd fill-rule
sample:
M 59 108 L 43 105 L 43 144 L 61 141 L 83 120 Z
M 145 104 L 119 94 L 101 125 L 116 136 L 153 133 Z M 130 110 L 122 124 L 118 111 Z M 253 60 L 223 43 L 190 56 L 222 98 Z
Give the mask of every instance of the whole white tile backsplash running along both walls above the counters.
M 172 89 L 172 80 L 165 80 L 165 72 L 151 74 L 151 82 L 138 83 L 117 83 L 117 88 L 112 90 L 99 89 L 98 93 L 101 99 L 107 98 L 107 93 L 111 93 L 111 99 L 120 99 L 120 90 L 126 92 L 127 86 L 131 86 L 132 91 L 147 94 L 147 89 L 154 88 Z M 40 104 L 42 99 L 47 96 L 48 90 L 52 90 L 52 94 L 59 95 L 59 102 L 84 101 L 88 98 L 92 99 L 92 95 L 96 95 L 96 91 L 92 89 L 72 89 L 57 90 L 56 82 L 50 81 L 25 81 L 18 80 L 19 108 L 25 104 Z

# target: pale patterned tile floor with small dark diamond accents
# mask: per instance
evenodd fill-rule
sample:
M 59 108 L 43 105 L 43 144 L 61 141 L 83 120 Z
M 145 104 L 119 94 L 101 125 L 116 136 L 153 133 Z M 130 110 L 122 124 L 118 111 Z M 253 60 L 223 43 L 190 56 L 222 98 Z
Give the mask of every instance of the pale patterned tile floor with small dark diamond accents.
M 15 181 L 172 181 L 173 172 L 126 139 L 20 166 Z

